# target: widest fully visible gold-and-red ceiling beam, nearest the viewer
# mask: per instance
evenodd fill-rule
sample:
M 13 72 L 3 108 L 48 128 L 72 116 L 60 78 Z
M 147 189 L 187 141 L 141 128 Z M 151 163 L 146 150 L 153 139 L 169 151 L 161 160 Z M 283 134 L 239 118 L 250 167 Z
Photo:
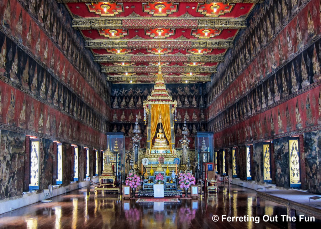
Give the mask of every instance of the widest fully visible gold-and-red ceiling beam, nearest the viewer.
M 245 29 L 244 19 L 199 19 L 199 18 L 76 18 L 73 20 L 74 29 Z

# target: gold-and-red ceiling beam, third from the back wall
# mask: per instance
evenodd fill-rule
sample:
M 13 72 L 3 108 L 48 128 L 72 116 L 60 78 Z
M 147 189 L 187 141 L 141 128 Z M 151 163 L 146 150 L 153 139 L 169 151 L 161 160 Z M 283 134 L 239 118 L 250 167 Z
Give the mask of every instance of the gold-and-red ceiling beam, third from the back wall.
M 94 56 L 95 62 L 158 62 L 156 55 L 99 55 Z M 223 55 L 161 55 L 160 62 L 221 62 L 224 61 Z

